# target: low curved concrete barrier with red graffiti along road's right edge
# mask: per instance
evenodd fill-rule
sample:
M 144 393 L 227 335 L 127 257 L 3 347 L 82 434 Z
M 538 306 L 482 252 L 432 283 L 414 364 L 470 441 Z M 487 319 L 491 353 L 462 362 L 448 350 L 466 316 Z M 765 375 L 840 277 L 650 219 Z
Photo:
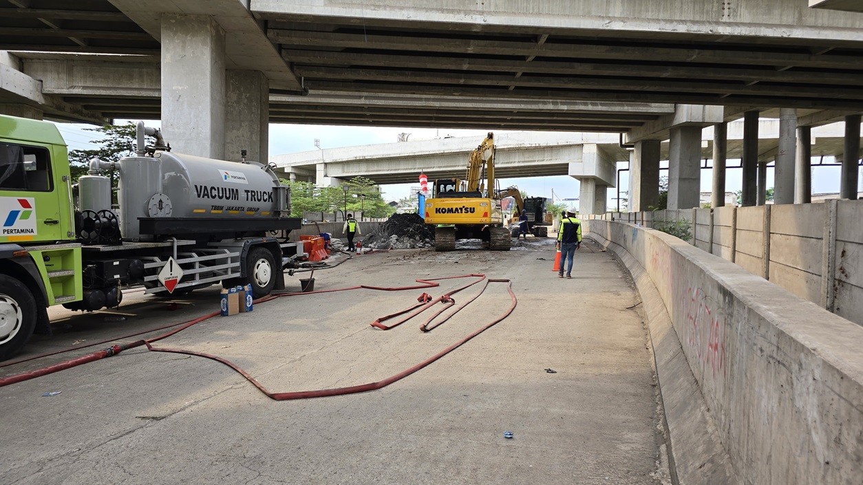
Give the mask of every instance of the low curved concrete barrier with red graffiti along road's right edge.
M 740 213 L 744 230 L 756 233 L 758 210 Z M 590 237 L 637 261 L 636 270 L 649 276 L 741 482 L 860 482 L 863 327 L 676 237 L 601 219 L 585 226 Z M 863 240 L 857 226 L 837 232 L 837 239 Z M 757 254 L 753 239 L 748 252 Z M 850 266 L 860 253 L 846 257 Z M 847 285 L 857 287 L 858 278 L 849 276 Z M 660 382 L 663 372 L 658 361 Z M 673 391 L 662 388 L 663 400 Z M 707 436 L 708 427 L 683 429 Z M 673 434 L 672 452 L 676 439 L 694 444 L 683 451 L 697 454 L 697 439 Z

